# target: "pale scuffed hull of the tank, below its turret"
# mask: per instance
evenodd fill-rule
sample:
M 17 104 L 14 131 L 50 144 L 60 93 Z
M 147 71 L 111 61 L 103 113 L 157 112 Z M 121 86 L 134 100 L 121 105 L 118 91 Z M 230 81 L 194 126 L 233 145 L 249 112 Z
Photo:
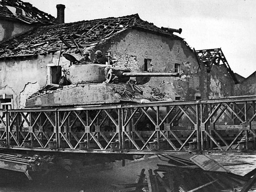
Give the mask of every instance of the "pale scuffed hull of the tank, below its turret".
M 125 90 L 130 89 L 128 84 L 74 84 L 63 88 L 46 91 L 45 93 L 27 99 L 27 108 L 77 106 L 94 104 L 111 104 L 119 102 L 143 102 L 151 97 L 151 88 L 140 85 L 143 93 L 134 92 L 128 95 Z

